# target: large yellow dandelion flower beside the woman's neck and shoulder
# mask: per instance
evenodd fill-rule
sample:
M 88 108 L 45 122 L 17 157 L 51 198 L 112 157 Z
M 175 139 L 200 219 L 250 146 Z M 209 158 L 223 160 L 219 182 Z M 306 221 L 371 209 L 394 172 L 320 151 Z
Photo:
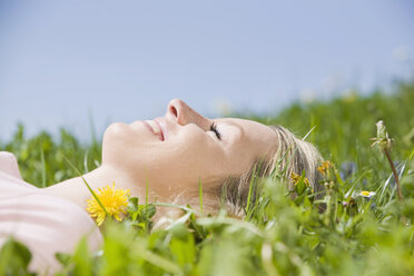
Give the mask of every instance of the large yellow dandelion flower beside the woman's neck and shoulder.
M 130 196 L 130 190 L 116 189 L 115 184 L 112 184 L 112 186 L 107 185 L 105 187 L 100 187 L 95 193 L 98 196 L 99 200 L 102 203 L 108 215 L 115 217 L 115 219 L 117 219 L 118 221 L 121 221 L 124 216 L 127 214 L 128 197 Z M 87 203 L 87 211 L 92 218 L 97 220 L 98 225 L 101 225 L 107 214 L 105 213 L 102 207 L 100 207 L 93 196 L 91 196 L 91 198 L 88 199 Z

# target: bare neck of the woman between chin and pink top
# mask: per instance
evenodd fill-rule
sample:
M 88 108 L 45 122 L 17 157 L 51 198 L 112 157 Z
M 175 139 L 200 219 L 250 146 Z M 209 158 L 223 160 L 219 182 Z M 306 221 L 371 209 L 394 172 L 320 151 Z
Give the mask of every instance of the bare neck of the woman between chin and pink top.
M 53 186 L 45 188 L 49 194 L 66 198 L 73 201 L 82 209 L 87 206 L 87 199 L 91 197 L 87 185 L 92 190 L 97 190 L 100 187 L 112 185 L 118 189 L 129 189 L 131 191 L 131 197 L 138 197 L 139 203 L 144 203 L 146 198 L 146 184 L 139 179 L 135 179 L 122 171 L 119 171 L 110 166 L 100 166 L 99 168 L 81 176 L 75 177 L 62 183 L 58 183 Z M 164 193 L 154 189 L 155 187 L 149 187 L 148 201 L 166 201 L 170 203 L 171 199 L 164 197 Z

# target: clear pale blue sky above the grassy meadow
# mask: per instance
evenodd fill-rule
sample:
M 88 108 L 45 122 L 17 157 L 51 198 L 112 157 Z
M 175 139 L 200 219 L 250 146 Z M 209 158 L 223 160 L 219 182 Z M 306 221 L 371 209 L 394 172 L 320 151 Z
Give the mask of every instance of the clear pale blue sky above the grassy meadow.
M 0 140 L 369 90 L 413 71 L 413 33 L 410 0 L 0 0 Z

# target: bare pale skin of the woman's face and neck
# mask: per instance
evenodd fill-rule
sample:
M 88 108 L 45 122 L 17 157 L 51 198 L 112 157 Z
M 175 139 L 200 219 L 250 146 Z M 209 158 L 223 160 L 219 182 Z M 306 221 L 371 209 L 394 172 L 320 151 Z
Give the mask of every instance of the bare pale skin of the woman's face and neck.
M 174 203 L 180 196 L 189 203 L 198 198 L 199 181 L 208 198 L 224 178 L 239 176 L 256 159 L 272 155 L 276 142 L 268 126 L 237 118 L 209 119 L 174 99 L 164 117 L 110 125 L 103 135 L 102 165 L 83 179 L 92 189 L 115 183 L 140 200 L 147 185 L 149 201 Z M 45 190 L 81 208 L 90 198 L 81 177 Z

